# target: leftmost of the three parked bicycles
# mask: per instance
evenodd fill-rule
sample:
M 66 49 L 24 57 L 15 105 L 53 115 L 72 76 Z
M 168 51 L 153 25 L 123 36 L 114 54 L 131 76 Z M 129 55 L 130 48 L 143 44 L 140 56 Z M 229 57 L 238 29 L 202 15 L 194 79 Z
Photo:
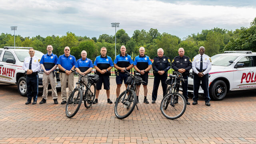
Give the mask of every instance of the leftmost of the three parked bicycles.
M 84 106 L 86 108 L 90 108 L 92 106 L 96 92 L 95 84 L 99 81 L 99 76 L 97 74 L 88 74 L 87 76 L 83 76 L 74 70 L 71 71 L 78 74 L 80 78 L 78 79 L 78 82 L 76 82 L 73 92 L 68 97 L 66 104 L 66 116 L 68 118 L 72 118 L 76 115 L 82 101 L 84 101 Z M 83 77 L 88 78 L 87 85 L 82 80 Z M 86 87 L 86 90 L 84 90 L 84 86 Z

